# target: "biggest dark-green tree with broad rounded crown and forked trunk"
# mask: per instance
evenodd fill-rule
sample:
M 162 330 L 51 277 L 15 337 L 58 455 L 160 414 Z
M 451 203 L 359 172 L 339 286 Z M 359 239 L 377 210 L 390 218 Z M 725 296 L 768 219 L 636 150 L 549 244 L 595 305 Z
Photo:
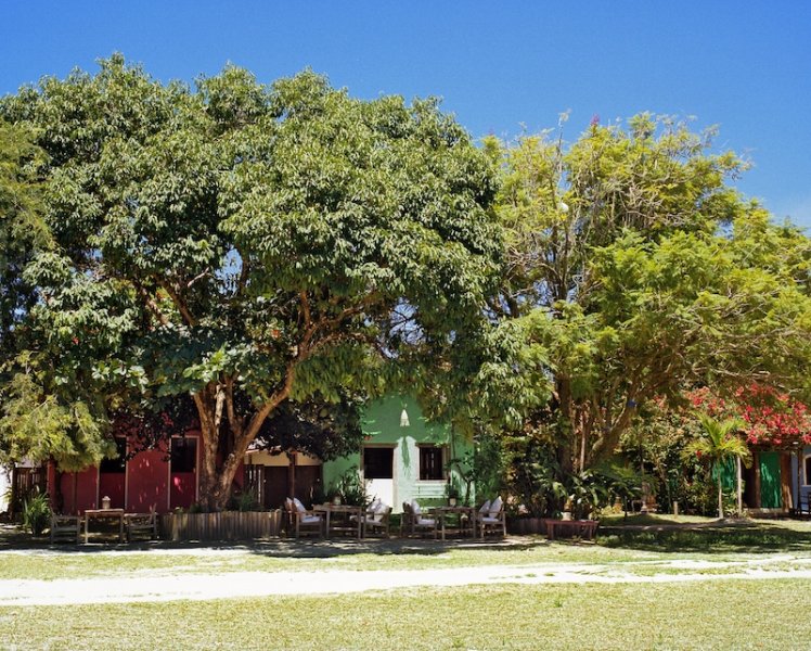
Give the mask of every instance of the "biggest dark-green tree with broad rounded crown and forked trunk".
M 190 89 L 114 56 L 0 116 L 49 155 L 55 244 L 26 278 L 53 383 L 105 414 L 190 395 L 210 508 L 285 401 L 379 390 L 479 329 L 494 175 L 435 101 L 235 67 Z

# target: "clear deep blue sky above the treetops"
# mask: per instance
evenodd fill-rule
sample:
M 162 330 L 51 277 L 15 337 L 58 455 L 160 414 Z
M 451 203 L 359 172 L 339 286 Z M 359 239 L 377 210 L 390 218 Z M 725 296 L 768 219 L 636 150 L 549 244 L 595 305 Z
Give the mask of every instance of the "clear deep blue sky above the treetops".
M 357 97 L 441 95 L 475 136 L 574 140 L 641 111 L 719 125 L 737 186 L 811 227 L 811 2 L 72 2 L 5 0 L 0 93 L 123 52 L 162 80 L 227 62 L 261 81 L 306 66 Z

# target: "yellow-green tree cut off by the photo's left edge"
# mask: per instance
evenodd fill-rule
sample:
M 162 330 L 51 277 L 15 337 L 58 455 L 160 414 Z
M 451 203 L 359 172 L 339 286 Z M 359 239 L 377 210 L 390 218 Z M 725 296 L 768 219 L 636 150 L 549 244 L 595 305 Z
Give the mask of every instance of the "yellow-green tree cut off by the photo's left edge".
M 0 461 L 54 458 L 76 469 L 110 446 L 88 404 L 49 382 L 30 328 L 38 295 L 24 271 L 53 244 L 37 174 L 44 156 L 33 129 L 0 122 Z

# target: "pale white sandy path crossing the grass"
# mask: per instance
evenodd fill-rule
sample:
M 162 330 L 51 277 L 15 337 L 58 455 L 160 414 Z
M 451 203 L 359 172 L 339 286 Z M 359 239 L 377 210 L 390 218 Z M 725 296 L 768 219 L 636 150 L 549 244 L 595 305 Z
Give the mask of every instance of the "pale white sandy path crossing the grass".
M 0 580 L 0 607 L 62 605 L 137 601 L 208 600 L 283 595 L 330 595 L 421 586 L 474 584 L 675 583 L 726 579 L 811 578 L 811 565 L 770 567 L 775 561 L 745 563 L 672 561 L 634 574 L 646 563 L 486 565 L 447 570 L 233 572 L 220 574 L 123 575 L 117 578 Z M 722 570 L 728 573 L 701 573 Z

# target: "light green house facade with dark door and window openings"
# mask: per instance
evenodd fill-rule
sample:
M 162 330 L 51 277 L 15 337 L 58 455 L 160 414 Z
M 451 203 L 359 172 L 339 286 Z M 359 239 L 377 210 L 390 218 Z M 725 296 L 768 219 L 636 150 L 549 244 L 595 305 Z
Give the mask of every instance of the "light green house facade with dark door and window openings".
M 462 459 L 472 444 L 450 425 L 427 422 L 414 398 L 390 396 L 371 404 L 362 429 L 358 454 L 323 464 L 327 492 L 345 473 L 358 473 L 366 495 L 390 505 L 395 513 L 414 499 L 424 507 L 447 503 L 450 485 L 464 498 L 464 482 L 451 461 Z

